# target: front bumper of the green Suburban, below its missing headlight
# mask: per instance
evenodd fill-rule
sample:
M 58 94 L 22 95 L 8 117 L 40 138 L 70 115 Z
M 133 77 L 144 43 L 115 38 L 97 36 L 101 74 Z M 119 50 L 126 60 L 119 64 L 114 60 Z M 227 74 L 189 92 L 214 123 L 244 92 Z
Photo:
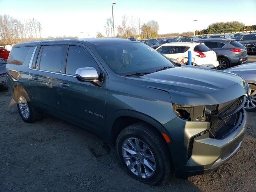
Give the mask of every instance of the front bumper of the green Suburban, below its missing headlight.
M 179 120 L 181 121 L 181 119 Z M 215 170 L 227 162 L 241 146 L 247 121 L 246 111 L 242 108 L 239 112 L 239 121 L 226 137 L 211 138 L 207 132 L 193 138 L 190 157 L 187 154 L 192 136 L 207 130 L 208 127 L 206 126 L 207 122 L 185 122 L 183 138 L 171 138 L 169 144 L 176 176 L 186 178 L 187 176 L 203 174 Z M 177 124 L 177 122 L 173 123 Z M 172 130 L 170 130 L 170 134 L 173 134 Z

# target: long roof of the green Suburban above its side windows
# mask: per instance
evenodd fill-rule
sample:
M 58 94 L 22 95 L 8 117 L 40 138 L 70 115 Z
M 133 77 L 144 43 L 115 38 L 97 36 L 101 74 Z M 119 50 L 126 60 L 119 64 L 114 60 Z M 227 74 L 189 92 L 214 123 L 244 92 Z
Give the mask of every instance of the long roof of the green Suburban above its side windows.
M 36 40 L 36 41 L 29 41 L 29 42 L 20 42 L 15 46 L 26 46 L 26 45 L 39 45 L 40 43 L 45 42 L 87 42 L 92 45 L 98 44 L 113 44 L 113 43 L 129 43 L 129 42 L 138 42 L 129 39 L 123 38 L 63 38 L 63 39 L 47 39 L 47 40 Z

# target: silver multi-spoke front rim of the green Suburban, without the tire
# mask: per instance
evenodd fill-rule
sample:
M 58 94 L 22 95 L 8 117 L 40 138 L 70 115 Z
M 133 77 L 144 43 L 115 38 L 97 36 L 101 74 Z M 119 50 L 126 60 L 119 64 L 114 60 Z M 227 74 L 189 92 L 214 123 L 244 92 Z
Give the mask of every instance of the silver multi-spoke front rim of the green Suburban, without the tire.
M 128 169 L 140 178 L 150 178 L 156 171 L 156 160 L 150 148 L 138 138 L 128 138 L 122 145 L 122 156 Z

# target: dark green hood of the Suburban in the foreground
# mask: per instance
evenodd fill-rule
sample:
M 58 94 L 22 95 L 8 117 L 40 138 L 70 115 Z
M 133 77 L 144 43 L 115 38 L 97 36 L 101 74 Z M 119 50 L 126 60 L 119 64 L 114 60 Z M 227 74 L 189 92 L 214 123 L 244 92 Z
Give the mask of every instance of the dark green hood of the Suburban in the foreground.
M 169 92 L 173 103 L 187 105 L 228 102 L 244 95 L 247 86 L 236 74 L 194 66 L 177 66 L 137 79 L 143 86 Z

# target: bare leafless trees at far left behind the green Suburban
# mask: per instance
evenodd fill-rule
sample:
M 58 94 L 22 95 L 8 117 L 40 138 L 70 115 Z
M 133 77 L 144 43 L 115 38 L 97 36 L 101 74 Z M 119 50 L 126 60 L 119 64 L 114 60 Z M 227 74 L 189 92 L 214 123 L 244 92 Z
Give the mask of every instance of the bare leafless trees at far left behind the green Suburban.
M 15 44 L 24 40 L 41 38 L 42 26 L 32 18 L 21 21 L 9 15 L 0 15 L 0 43 Z

